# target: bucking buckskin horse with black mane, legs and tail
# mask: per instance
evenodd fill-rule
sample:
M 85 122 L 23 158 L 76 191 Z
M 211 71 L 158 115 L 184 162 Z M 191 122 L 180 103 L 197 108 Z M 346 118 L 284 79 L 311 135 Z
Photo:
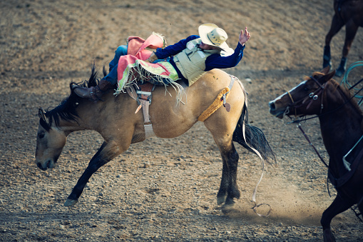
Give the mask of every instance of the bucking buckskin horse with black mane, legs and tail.
M 149 107 L 150 121 L 155 136 L 173 138 L 188 131 L 198 117 L 215 99 L 220 91 L 228 87 L 233 77 L 214 69 L 204 74 L 193 86 L 184 86 L 186 100 L 178 102 L 173 87 L 157 86 L 153 91 Z M 94 66 L 91 78 L 84 86 L 96 86 Z M 71 84 L 72 87 L 72 84 Z M 165 88 L 167 89 L 165 91 Z M 171 94 L 168 95 L 167 93 Z M 55 109 L 44 111 L 39 108 L 39 128 L 36 138 L 36 165 L 41 170 L 54 168 L 61 155 L 66 137 L 73 131 L 95 130 L 104 138 L 97 153 L 89 161 L 86 170 L 78 179 L 65 206 L 73 206 L 83 192 L 88 179 L 98 168 L 128 149 L 131 143 L 145 140 L 143 112 L 137 112 L 138 104 L 128 94 L 103 94 L 102 101 L 82 99 L 73 93 Z M 260 153 L 264 161 L 272 163 L 275 154 L 264 133 L 248 124 L 247 96 L 244 87 L 236 79 L 227 96 L 230 111 L 220 107 L 205 119 L 205 127 L 212 133 L 223 159 L 222 179 L 217 194 L 218 204 L 231 205 L 240 197 L 237 186 L 238 153 L 233 141 L 248 151 Z

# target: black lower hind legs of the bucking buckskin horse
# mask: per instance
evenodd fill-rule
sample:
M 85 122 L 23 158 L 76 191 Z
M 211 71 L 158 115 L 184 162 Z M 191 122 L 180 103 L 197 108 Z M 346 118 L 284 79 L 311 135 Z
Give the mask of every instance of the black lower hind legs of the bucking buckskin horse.
M 220 190 L 217 194 L 218 205 L 225 203 L 233 204 L 233 198 L 240 198 L 240 191 L 237 186 L 237 166 L 238 153 L 232 143 L 230 151 L 221 152 L 223 159 L 222 180 L 220 181 Z

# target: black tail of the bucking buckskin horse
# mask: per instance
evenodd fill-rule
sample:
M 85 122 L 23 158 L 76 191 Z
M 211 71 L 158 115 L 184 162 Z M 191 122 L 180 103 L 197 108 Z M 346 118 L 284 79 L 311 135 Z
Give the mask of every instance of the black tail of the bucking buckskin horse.
M 243 125 L 245 125 L 246 140 L 243 138 Z M 243 111 L 235 128 L 235 132 L 233 133 L 232 140 L 240 143 L 241 146 L 253 153 L 255 153 L 255 151 L 253 151 L 252 148 L 255 148 L 260 152 L 260 155 L 267 163 L 276 163 L 275 153 L 272 151 L 265 134 L 260 128 L 251 126 L 248 123 L 248 110 L 246 104 L 243 106 Z

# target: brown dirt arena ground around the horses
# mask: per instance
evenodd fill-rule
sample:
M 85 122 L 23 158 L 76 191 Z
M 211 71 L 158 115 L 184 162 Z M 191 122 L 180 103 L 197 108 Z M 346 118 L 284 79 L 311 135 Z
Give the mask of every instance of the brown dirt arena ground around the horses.
M 268 112 L 268 101 L 322 69 L 332 1 L 73 1 L 0 2 L 0 241 L 322 241 L 322 212 L 334 198 L 327 170 L 295 125 Z M 183 136 L 149 138 L 95 173 L 78 203 L 63 203 L 103 142 L 95 131 L 71 133 L 56 168 L 34 163 L 38 107 L 57 106 L 71 81 L 88 79 L 128 36 L 152 31 L 173 44 L 212 22 L 230 46 L 248 26 L 251 39 L 237 76 L 249 96 L 250 121 L 277 155 L 267 166 L 253 213 L 252 191 L 261 175 L 257 156 L 236 144 L 242 196 L 230 211 L 216 203 L 221 158 L 203 123 Z M 339 64 L 344 28 L 332 41 Z M 359 29 L 348 65 L 363 59 Z M 360 79 L 362 69 L 352 74 Z M 337 78 L 339 81 L 340 79 Z M 303 123 L 328 159 L 316 120 Z M 266 212 L 266 206 L 260 213 Z M 345 211 L 332 223 L 337 241 L 359 241 L 363 223 Z

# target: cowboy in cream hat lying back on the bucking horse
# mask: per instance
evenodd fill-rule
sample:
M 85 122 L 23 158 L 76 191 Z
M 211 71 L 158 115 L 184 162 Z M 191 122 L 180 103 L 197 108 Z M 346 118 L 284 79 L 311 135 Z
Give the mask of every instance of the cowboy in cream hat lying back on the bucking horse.
M 246 27 L 245 32 L 241 30 L 237 46 L 233 51 L 225 42 L 228 38 L 227 33 L 217 25 L 202 24 L 198 28 L 198 33 L 199 36 L 188 36 L 187 39 L 182 39 L 176 44 L 153 51 L 145 62 L 168 64 L 168 69 L 171 69 L 176 78 L 169 76 L 155 78 L 155 75 L 150 75 L 146 78 L 147 81 L 155 85 L 167 85 L 181 80 L 191 86 L 207 71 L 237 66 L 242 59 L 245 43 L 250 39 L 250 33 Z M 120 84 L 120 75 L 125 70 L 120 69 L 118 65 L 127 59 L 127 54 L 128 46 L 119 46 L 114 59 L 110 62 L 110 72 L 99 81 L 98 86 L 91 88 L 76 86 L 74 92 L 83 98 L 98 100 L 116 83 L 118 83 L 118 91 L 121 91 L 124 86 Z M 145 63 L 139 62 L 143 64 L 141 67 L 145 67 Z M 140 76 L 145 79 L 145 74 Z

